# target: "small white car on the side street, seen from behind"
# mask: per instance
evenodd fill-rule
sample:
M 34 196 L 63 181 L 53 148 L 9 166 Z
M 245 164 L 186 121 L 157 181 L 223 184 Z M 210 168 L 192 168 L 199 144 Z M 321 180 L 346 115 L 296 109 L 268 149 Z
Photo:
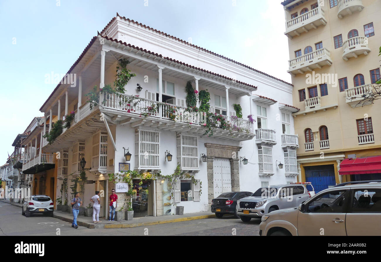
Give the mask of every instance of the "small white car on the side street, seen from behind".
M 22 215 L 30 217 L 31 214 L 48 214 L 53 217 L 54 203 L 49 196 L 32 195 L 22 205 Z

